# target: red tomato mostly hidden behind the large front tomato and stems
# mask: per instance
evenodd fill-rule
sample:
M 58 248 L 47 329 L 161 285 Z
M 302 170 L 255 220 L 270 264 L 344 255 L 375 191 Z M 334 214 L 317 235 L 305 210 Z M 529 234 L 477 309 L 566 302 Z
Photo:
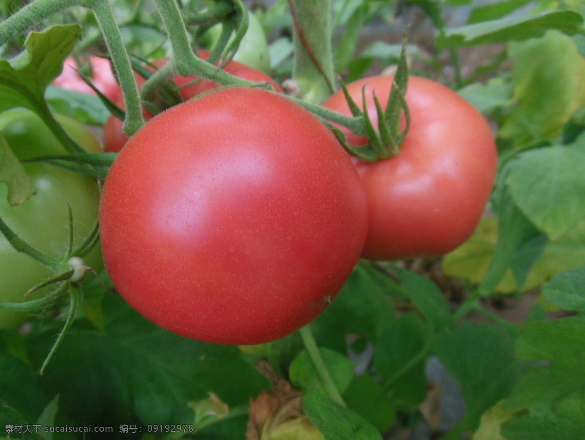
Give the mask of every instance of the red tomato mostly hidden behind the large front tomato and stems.
M 198 55 L 201 59 L 207 60 L 211 53 L 207 50 L 199 50 Z M 161 58 L 153 62 L 153 64 L 157 67 L 164 66 L 164 63 L 168 61 L 167 58 Z M 147 67 L 149 70 L 153 70 L 151 67 Z M 248 67 L 245 64 L 238 63 L 238 61 L 230 61 L 226 66 L 223 68 L 229 74 L 234 75 L 235 77 L 242 78 L 243 80 L 248 81 L 256 81 L 259 83 L 270 83 L 272 88 L 275 92 L 282 92 L 282 89 L 278 87 L 278 84 L 274 82 L 272 78 L 270 78 L 267 74 L 253 69 L 252 67 Z M 207 92 L 209 90 L 213 90 L 214 88 L 219 87 L 218 84 L 209 81 L 209 80 L 201 80 L 197 83 L 189 84 L 192 81 L 196 80 L 196 76 L 192 77 L 181 77 L 176 76 L 173 77 L 173 81 L 175 84 L 180 87 L 179 93 L 181 95 L 181 99 L 183 101 L 188 101 L 189 99 L 202 94 L 203 92 Z M 144 84 L 144 78 L 140 75 L 136 74 L 136 81 L 139 87 Z M 188 84 L 188 85 L 186 85 Z M 120 92 L 121 93 L 121 92 Z M 118 105 L 123 108 L 123 101 L 119 100 Z M 142 112 L 144 119 L 148 120 L 152 118 L 152 114 L 144 110 Z M 122 121 L 116 118 L 113 115 L 110 115 L 108 120 L 104 126 L 104 151 L 111 152 L 111 153 L 118 153 L 122 147 L 128 142 L 128 136 L 122 131 Z

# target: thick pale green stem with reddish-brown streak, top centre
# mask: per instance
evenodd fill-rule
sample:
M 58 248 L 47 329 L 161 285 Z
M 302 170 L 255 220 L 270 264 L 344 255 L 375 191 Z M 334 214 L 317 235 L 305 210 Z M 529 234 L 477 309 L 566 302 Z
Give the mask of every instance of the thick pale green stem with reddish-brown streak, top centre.
M 305 101 L 321 104 L 335 92 L 329 0 L 288 0 L 294 36 L 292 79 Z

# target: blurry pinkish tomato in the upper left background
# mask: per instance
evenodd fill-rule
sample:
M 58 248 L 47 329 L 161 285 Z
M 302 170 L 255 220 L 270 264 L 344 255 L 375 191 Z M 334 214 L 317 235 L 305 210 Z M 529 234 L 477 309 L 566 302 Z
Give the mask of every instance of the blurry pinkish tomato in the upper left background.
M 122 91 L 112 73 L 112 67 L 109 61 L 105 58 L 91 55 L 90 64 L 92 70 L 91 82 L 108 99 L 111 101 L 118 100 L 121 97 Z M 77 73 L 76 70 L 78 68 L 77 61 L 73 57 L 68 57 L 63 64 L 63 71 L 55 78 L 53 84 L 67 90 L 95 95 L 94 90 L 85 84 L 85 81 Z

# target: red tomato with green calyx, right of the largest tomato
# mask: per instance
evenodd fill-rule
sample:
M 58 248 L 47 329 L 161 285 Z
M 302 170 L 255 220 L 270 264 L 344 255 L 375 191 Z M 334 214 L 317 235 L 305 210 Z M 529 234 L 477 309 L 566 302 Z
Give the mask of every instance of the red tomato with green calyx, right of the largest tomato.
M 367 108 L 377 126 L 373 91 L 387 104 L 392 77 L 349 84 L 352 98 Z M 410 77 L 406 100 L 411 126 L 397 156 L 376 163 L 355 160 L 366 190 L 370 226 L 362 256 L 396 260 L 439 256 L 461 245 L 476 228 L 494 184 L 497 152 L 483 116 L 449 88 Z M 342 92 L 323 104 L 351 115 Z M 365 137 L 345 132 L 351 145 Z

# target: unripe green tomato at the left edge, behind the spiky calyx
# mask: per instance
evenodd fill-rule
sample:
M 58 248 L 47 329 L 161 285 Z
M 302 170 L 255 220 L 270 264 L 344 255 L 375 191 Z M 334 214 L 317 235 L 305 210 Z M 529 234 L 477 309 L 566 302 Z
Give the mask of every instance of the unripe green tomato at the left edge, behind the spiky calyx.
M 67 134 L 88 152 L 99 153 L 101 146 L 80 123 L 56 116 Z M 65 150 L 42 120 L 31 111 L 12 109 L 0 114 L 0 132 L 18 159 L 44 154 L 63 154 Z M 5 185 L 0 185 L 0 216 L 33 248 L 58 259 L 68 245 L 68 209 L 73 211 L 74 243 L 81 243 L 95 225 L 98 213 L 98 188 L 88 176 L 63 170 L 47 163 L 24 163 L 37 193 L 22 204 L 11 207 Z M 32 300 L 47 288 L 26 298 L 29 288 L 51 275 L 51 271 L 31 257 L 15 250 L 0 235 L 0 301 L 16 303 Z M 99 269 L 101 256 L 95 248 L 87 256 L 89 266 Z M 25 319 L 23 312 L 0 310 L 0 328 L 11 328 Z

